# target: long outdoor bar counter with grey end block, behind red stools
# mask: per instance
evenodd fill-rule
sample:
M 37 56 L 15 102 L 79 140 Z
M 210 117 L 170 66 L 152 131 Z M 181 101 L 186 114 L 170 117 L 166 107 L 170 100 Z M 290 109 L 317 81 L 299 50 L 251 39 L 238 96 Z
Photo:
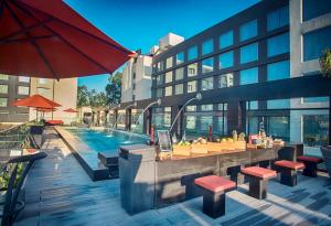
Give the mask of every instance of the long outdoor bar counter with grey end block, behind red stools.
M 296 160 L 302 144 L 222 151 L 190 157 L 173 155 L 157 160 L 156 147 L 124 146 L 119 150 L 122 206 L 131 214 L 158 208 L 201 195 L 194 179 L 206 174 L 228 176 L 243 183 L 238 172 L 244 165 L 267 165 L 273 160 Z M 143 202 L 142 198 L 143 197 Z M 143 204 L 142 204 L 143 203 Z M 129 207 L 128 207 L 129 206 Z

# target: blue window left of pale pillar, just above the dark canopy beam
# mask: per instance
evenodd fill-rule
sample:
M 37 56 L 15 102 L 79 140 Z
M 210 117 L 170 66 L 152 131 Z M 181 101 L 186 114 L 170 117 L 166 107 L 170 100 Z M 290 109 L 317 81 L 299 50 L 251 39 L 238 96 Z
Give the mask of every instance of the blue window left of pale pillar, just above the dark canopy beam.
M 278 79 L 285 79 L 289 77 L 290 77 L 289 61 L 268 64 L 267 66 L 268 80 L 278 80 Z

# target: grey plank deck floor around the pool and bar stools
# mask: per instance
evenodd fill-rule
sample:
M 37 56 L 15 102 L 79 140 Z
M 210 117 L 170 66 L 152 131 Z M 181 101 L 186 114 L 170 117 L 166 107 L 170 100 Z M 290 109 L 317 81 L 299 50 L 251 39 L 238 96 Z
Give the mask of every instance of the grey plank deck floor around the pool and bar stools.
M 296 187 L 271 181 L 265 201 L 247 196 L 247 185 L 242 185 L 227 193 L 226 215 L 217 219 L 201 212 L 202 197 L 130 216 L 120 206 L 119 181 L 92 182 L 54 131 L 43 150 L 49 155 L 31 170 L 17 226 L 331 225 L 331 180 L 325 174 L 300 175 Z

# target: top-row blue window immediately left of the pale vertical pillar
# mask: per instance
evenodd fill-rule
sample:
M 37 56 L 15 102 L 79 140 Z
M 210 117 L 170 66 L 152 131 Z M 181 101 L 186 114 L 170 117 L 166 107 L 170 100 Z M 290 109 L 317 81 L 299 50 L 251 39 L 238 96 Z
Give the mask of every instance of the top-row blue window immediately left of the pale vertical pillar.
M 289 7 L 282 7 L 278 10 L 275 10 L 268 13 L 268 31 L 279 29 L 281 26 L 289 24 Z

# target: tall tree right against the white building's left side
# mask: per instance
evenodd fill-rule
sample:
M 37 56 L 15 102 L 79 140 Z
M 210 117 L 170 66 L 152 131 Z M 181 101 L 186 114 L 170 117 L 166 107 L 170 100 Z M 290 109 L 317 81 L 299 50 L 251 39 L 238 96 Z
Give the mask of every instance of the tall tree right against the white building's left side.
M 117 72 L 115 75 L 109 77 L 109 84 L 107 84 L 106 97 L 107 97 L 107 105 L 118 105 L 121 98 L 121 78 L 122 73 Z

